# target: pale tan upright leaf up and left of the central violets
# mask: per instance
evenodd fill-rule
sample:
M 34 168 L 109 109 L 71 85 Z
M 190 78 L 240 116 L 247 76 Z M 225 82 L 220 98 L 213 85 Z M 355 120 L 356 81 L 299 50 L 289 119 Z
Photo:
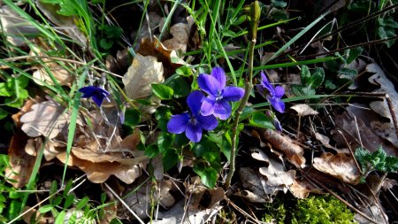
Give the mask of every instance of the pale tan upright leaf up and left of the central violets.
M 133 64 L 123 76 L 126 95 L 131 99 L 149 97 L 152 93 L 152 83 L 162 83 L 163 65 L 153 56 L 142 56 L 136 54 Z

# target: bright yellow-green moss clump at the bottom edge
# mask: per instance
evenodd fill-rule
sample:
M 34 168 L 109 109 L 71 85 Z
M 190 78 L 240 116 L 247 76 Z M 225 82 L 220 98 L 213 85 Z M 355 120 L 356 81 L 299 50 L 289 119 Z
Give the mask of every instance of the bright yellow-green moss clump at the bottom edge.
M 292 223 L 348 224 L 356 223 L 354 213 L 332 196 L 310 196 L 299 200 L 292 213 Z

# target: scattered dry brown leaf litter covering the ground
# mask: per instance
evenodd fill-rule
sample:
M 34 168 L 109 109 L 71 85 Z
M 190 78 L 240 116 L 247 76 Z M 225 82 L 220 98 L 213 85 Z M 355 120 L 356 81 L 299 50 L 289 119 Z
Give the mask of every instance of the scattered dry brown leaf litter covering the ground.
M 59 17 L 50 5 L 39 2 L 37 6 L 45 16 L 57 26 L 66 27 L 63 31 L 65 35 L 79 40 L 80 45 L 86 45 L 86 37 L 80 33 L 73 17 Z M 8 9 L 2 7 L 1 12 L 5 10 Z M 150 114 L 155 112 L 163 102 L 152 96 L 151 84 L 163 84 L 165 79 L 175 73 L 180 66 L 189 66 L 183 58 L 179 58 L 177 55 L 188 50 L 190 38 L 193 38 L 192 31 L 195 21 L 188 17 L 186 18 L 188 23 L 174 23 L 170 27 L 170 33 L 165 34 L 166 38 L 158 40 L 154 34 L 157 33 L 157 28 L 161 30 L 165 26 L 165 18 L 158 16 L 156 12 L 149 12 L 149 17 L 148 25 L 144 23 L 140 31 L 142 36 L 139 38 L 139 48 L 136 50 L 133 60 L 128 61 L 126 50 L 119 51 L 116 59 L 107 58 L 106 67 L 111 72 L 127 70 L 122 78 L 126 97 L 134 101 L 149 99 L 150 105 L 141 105 L 140 112 L 145 117 L 142 121 L 152 122 Z M 4 18 L 7 19 L 4 17 L 4 13 L 0 13 L 2 23 Z M 15 18 L 20 20 L 17 16 Z M 10 27 L 12 26 L 6 25 L 5 32 L 15 35 L 16 31 Z M 17 26 L 17 28 L 19 28 L 17 32 L 20 32 L 25 27 Z M 28 30 L 30 28 L 32 27 L 27 27 Z M 35 32 L 34 29 L 33 31 Z M 21 43 L 19 39 L 9 40 L 15 45 Z M 324 50 L 320 45 L 321 42 L 318 42 L 318 49 Z M 47 59 L 49 56 L 45 52 L 47 50 L 52 50 L 47 43 L 42 42 L 41 39 L 35 39 L 31 55 L 42 57 L 42 63 L 45 66 L 32 67 L 36 70 L 33 73 L 33 77 L 36 78 L 34 81 L 38 84 L 45 82 L 50 85 L 54 85 L 54 81 L 57 81 L 60 85 L 72 86 L 73 75 L 60 64 Z M 176 61 L 178 62 L 176 63 Z M 127 68 L 127 64 L 130 63 L 131 65 Z M 220 63 L 223 64 L 222 61 Z M 368 79 L 371 84 L 378 85 L 379 89 L 374 92 L 388 93 L 394 108 L 396 108 L 398 97 L 394 84 L 387 79 L 377 64 L 371 63 L 367 66 L 364 64 L 364 60 L 359 59 L 348 66 L 356 69 L 358 73 L 364 67 L 368 73 L 374 73 Z M 198 71 L 193 69 L 193 72 Z M 270 77 L 272 81 L 300 81 L 300 77 L 296 73 L 288 73 L 287 77 L 283 79 L 280 78 L 282 75 L 279 75 L 279 72 L 275 70 L 269 72 L 273 75 L 273 78 Z M 360 89 L 358 83 L 355 81 L 349 89 Z M 289 84 L 281 83 L 281 86 L 288 87 Z M 287 89 L 287 95 L 295 97 L 289 89 Z M 66 158 L 68 158 L 67 166 L 78 168 L 87 175 L 88 181 L 101 184 L 114 182 L 114 186 L 119 186 L 120 195 L 134 189 L 136 184 L 142 182 L 142 176 L 153 174 L 152 182 L 143 184 L 133 194 L 124 197 L 128 209 L 138 214 L 140 219 L 149 217 L 150 205 L 156 202 L 163 210 L 157 211 L 154 223 L 181 223 L 184 221 L 206 223 L 206 221 L 214 220 L 219 212 L 226 207 L 224 203 L 226 197 L 237 196 L 241 197 L 245 203 L 249 201 L 260 205 L 273 202 L 282 194 L 291 193 L 294 197 L 301 199 L 308 197 L 311 193 L 325 194 L 325 189 L 311 182 L 310 179 L 323 182 L 326 188 L 339 190 L 345 196 L 351 194 L 352 185 L 356 185 L 361 193 L 371 198 L 371 194 L 366 194 L 365 189 L 360 189 L 363 186 L 360 183 L 361 174 L 357 169 L 355 158 L 352 157 L 348 148 L 355 151 L 359 147 L 364 147 L 369 151 L 376 151 L 379 145 L 382 145 L 387 155 L 397 155 L 398 144 L 396 135 L 394 135 L 394 123 L 386 100 L 373 101 L 369 106 L 349 105 L 345 112 L 333 118 L 335 126 L 331 128 L 310 127 L 309 123 L 314 120 L 314 122 L 318 122 L 321 120 L 319 117 L 325 116 L 325 114 L 318 108 L 314 110 L 313 108 L 316 107 L 312 104 L 295 104 L 290 107 L 290 112 L 284 114 L 284 118 L 295 120 L 296 115 L 308 117 L 309 119 L 302 123 L 304 132 L 310 133 L 310 135 L 295 139 L 295 135 L 290 133 L 291 130 L 283 133 L 261 128 L 246 130 L 244 133 L 253 134 L 250 134 L 250 137 L 255 136 L 256 141 L 260 141 L 262 148 L 246 147 L 247 145 L 244 143 L 247 149 L 243 147 L 242 152 L 249 152 L 251 155 L 251 158 L 245 159 L 256 162 L 238 167 L 240 179 L 233 189 L 228 189 L 228 191 L 220 187 L 208 189 L 198 176 L 187 178 L 184 184 L 181 184 L 180 180 L 176 182 L 174 177 L 195 167 L 195 154 L 184 154 L 185 158 L 181 159 L 181 165 L 189 161 L 190 166 L 181 166 L 179 174 L 175 174 L 173 177 L 165 174 L 162 157 L 149 159 L 144 151 L 139 150 L 142 144 L 150 144 L 142 143 L 142 139 L 145 138 L 142 137 L 142 131 L 139 128 L 134 129 L 133 133 L 129 135 L 121 133 L 119 121 L 116 121 L 118 119 L 111 118 L 111 114 L 114 116 L 118 112 L 116 108 L 119 106 L 119 102 L 115 103 L 114 100 L 112 99 L 111 103 L 107 104 L 107 108 L 99 110 L 93 107 L 80 108 L 76 122 L 77 130 L 69 156 L 66 152 L 68 125 L 71 120 L 69 108 L 65 108 L 65 105 L 57 103 L 50 97 L 47 97 L 46 100 L 28 100 L 26 107 L 24 106 L 13 117 L 15 123 L 21 125 L 21 131 L 13 136 L 8 151 L 11 166 L 6 169 L 6 175 L 9 182 L 16 188 L 26 186 L 32 174 L 37 152 L 43 149 L 46 161 L 65 164 Z M 88 106 L 88 104 L 83 105 Z M 140 106 L 140 104 L 135 105 Z M 362 109 L 358 110 L 358 108 Z M 363 110 L 363 108 L 365 109 Z M 389 121 L 380 119 L 374 113 Z M 312 117 L 313 115 L 316 116 Z M 332 135 L 333 138 L 330 138 Z M 304 142 L 302 140 L 304 138 L 309 141 Z M 42 139 L 48 141 L 43 142 Z M 242 139 L 244 139 L 243 136 Z M 314 146 L 310 143 L 319 144 Z M 314 149 L 316 149 L 315 152 Z M 333 150 L 333 153 L 330 150 Z M 308 156 L 311 153 L 312 156 Z M 301 172 L 305 172 L 306 175 L 302 175 Z M 221 180 L 223 176 L 219 174 L 218 178 Z M 378 175 L 369 175 L 366 182 L 371 185 L 371 190 L 376 195 L 384 191 L 391 191 L 397 185 L 395 180 L 386 178 L 386 176 L 380 178 Z M 350 197 L 353 200 L 357 198 Z M 116 200 L 115 197 L 112 198 Z M 386 216 L 386 213 L 380 210 L 379 205 L 376 205 L 375 202 L 369 205 L 358 205 L 358 207 L 374 220 L 380 223 L 384 222 L 383 216 Z M 124 214 L 126 219 L 134 219 L 126 212 L 128 209 L 121 205 L 114 205 L 110 211 L 112 213 L 110 217 Z M 110 221 L 112 218 L 107 219 Z M 359 214 L 356 214 L 356 220 L 360 223 L 369 223 L 369 220 L 364 220 Z

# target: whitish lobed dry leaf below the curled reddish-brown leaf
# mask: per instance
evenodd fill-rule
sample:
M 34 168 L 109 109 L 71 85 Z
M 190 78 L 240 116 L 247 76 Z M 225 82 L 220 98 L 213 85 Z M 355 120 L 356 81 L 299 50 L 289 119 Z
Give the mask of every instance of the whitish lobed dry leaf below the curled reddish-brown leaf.
M 259 168 L 260 174 L 265 177 L 265 194 L 272 195 L 278 190 L 283 190 L 283 192 L 286 193 L 287 189 L 295 180 L 295 170 L 285 171 L 285 167 L 281 162 L 268 157 L 267 154 L 260 149 L 252 149 L 251 156 L 257 159 L 260 158 L 259 160 L 262 160 L 267 164 L 267 166 Z

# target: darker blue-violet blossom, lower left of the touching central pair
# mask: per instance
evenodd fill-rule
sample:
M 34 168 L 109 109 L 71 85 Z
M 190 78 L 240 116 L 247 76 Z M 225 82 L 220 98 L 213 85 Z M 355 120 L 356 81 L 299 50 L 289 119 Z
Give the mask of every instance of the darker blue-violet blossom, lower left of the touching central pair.
M 172 115 L 167 123 L 167 130 L 173 134 L 185 132 L 188 139 L 194 143 L 201 141 L 204 130 L 213 130 L 218 126 L 218 120 L 213 115 L 203 116 L 201 105 L 204 95 L 200 90 L 195 90 L 187 97 L 188 107 L 191 112 Z

